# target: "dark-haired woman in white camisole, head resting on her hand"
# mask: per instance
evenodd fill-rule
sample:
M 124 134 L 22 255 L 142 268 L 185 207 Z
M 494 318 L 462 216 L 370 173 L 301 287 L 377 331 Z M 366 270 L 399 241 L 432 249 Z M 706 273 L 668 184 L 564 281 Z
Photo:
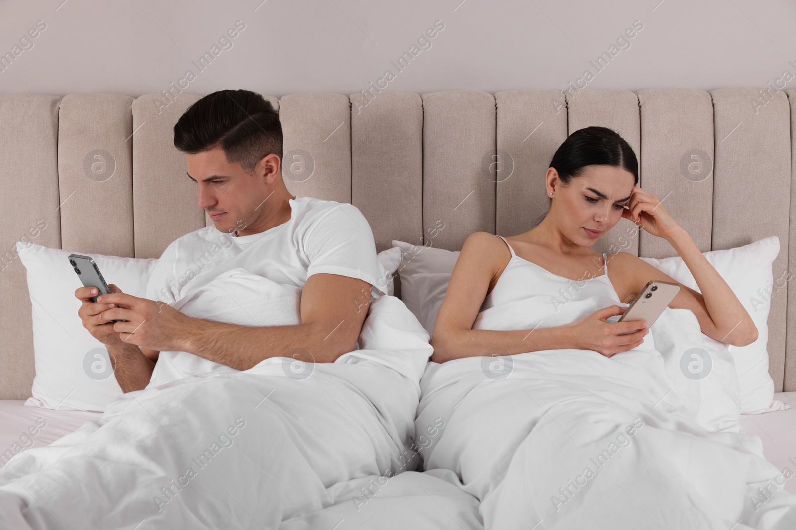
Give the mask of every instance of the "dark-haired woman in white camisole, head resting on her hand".
M 542 326 L 528 337 L 528 330 L 473 328 L 479 309 L 490 303 L 490 293 L 506 272 L 512 279 L 524 275 L 572 281 L 593 278 L 621 304 L 629 304 L 649 280 L 676 283 L 633 254 L 591 250 L 622 218 L 669 242 L 700 286 L 702 294 L 681 285 L 670 308 L 692 311 L 702 332 L 712 339 L 735 346 L 755 342 L 757 328 L 724 278 L 657 197 L 638 187 L 636 156 L 618 133 L 606 127 L 572 133 L 556 151 L 544 180 L 551 204 L 539 226 L 512 238 L 486 232 L 467 238 L 435 323 L 433 361 L 483 355 L 494 347 L 509 354 L 568 347 L 611 357 L 640 345 L 649 332 L 642 322 L 606 322 L 622 314 L 618 305 L 560 327 Z M 512 280 L 504 279 L 491 296 L 516 289 Z M 627 331 L 635 333 L 620 335 Z

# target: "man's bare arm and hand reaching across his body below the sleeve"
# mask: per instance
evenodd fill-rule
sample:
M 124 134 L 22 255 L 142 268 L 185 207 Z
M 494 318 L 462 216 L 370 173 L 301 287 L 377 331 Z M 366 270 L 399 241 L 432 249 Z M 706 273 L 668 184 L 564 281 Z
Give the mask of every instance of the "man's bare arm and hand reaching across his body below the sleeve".
M 313 274 L 302 290 L 302 323 L 295 326 L 248 327 L 192 319 L 169 305 L 121 293 L 98 301 L 122 306 L 107 309 L 101 319 L 125 320 L 113 324 L 125 342 L 153 349 L 149 351 L 187 351 L 243 370 L 270 357 L 334 362 L 353 350 L 368 313 L 370 288 L 358 278 Z M 131 368 L 146 366 L 142 359 L 132 361 Z

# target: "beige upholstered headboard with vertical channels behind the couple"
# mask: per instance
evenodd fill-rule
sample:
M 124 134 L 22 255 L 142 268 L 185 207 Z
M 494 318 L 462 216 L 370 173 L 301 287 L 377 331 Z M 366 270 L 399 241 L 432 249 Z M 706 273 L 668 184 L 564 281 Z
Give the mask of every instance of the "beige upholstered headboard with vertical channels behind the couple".
M 14 243 L 31 239 L 40 219 L 46 228 L 32 238 L 39 245 L 128 257 L 158 257 L 174 239 L 209 224 L 172 145 L 174 122 L 199 97 L 0 95 L 0 398 L 30 395 L 31 307 Z M 392 239 L 458 250 L 474 231 L 529 230 L 548 207 L 544 172 L 568 131 L 617 130 L 638 155 L 642 188 L 664 201 L 703 252 L 778 236 L 770 372 L 777 391 L 796 390 L 796 301 L 788 303 L 796 288 L 787 282 L 796 274 L 789 257 L 796 91 L 269 99 L 282 121 L 287 188 L 353 203 L 379 251 Z M 593 248 L 674 254 L 626 219 Z

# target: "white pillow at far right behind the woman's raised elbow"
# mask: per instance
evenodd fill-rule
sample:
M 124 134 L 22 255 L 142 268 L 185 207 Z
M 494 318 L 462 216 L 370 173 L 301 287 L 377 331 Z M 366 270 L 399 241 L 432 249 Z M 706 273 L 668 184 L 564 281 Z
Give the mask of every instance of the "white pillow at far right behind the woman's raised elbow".
M 771 304 L 761 293 L 772 285 L 771 265 L 779 253 L 779 238 L 771 236 L 746 246 L 703 253 L 713 268 L 724 278 L 738 296 L 743 308 L 755 322 L 758 338 L 747 346 L 730 346 L 704 337 L 705 344 L 714 350 L 728 350 L 735 359 L 740 405 L 744 414 L 759 414 L 786 408 L 774 399 L 774 381 L 768 373 L 768 312 Z M 679 256 L 655 259 L 642 257 L 650 265 L 668 274 L 677 282 L 700 291 L 693 275 Z

